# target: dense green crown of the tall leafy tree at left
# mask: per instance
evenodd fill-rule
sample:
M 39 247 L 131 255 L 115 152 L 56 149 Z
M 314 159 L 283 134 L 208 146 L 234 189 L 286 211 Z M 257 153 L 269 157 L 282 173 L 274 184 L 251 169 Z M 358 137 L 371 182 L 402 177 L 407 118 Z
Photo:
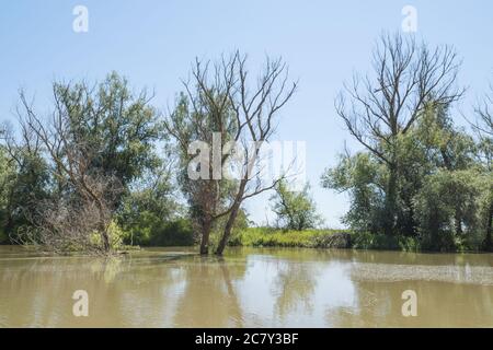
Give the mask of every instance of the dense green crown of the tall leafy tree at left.
M 54 92 L 70 121 L 70 135 L 98 150 L 92 164 L 124 186 L 159 164 L 153 141 L 162 131 L 146 91 L 134 95 L 128 82 L 112 72 L 96 89 L 84 82 L 55 83 Z

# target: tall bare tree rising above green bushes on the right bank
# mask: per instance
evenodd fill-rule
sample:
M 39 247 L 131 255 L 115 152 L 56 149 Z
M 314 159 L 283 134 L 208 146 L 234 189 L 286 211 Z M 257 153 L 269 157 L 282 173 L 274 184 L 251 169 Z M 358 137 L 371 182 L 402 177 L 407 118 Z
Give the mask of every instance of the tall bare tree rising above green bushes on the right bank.
M 387 234 L 394 232 L 400 172 L 397 148 L 427 104 L 447 106 L 463 90 L 456 88 L 460 62 L 452 48 L 431 49 L 401 34 L 382 35 L 372 55 L 374 75 L 357 75 L 335 101 L 349 133 L 389 171 L 386 188 Z

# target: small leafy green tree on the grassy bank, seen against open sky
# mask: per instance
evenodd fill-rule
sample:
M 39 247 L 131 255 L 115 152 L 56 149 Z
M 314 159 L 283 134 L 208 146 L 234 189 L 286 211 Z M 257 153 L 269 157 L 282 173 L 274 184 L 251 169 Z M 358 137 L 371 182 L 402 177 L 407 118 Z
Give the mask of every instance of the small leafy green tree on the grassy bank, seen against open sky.
M 317 213 L 317 206 L 310 196 L 310 186 L 305 185 L 300 191 L 289 188 L 286 180 L 278 183 L 273 200 L 272 210 L 277 215 L 277 224 L 285 230 L 302 231 L 314 229 L 322 219 Z

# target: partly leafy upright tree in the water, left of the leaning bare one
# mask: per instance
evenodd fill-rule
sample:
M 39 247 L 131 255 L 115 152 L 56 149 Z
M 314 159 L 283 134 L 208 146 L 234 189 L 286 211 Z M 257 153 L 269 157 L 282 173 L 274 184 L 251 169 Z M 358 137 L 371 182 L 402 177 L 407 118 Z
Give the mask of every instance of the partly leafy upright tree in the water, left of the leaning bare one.
M 218 178 L 210 162 L 206 166 L 205 178 L 192 179 L 186 172 L 195 154 L 191 154 L 190 145 L 194 141 L 213 144 L 214 132 L 220 135 L 222 142 L 230 139 L 234 132 L 234 124 L 229 104 L 229 91 L 234 88 L 234 77 L 229 62 L 223 60 L 221 66 L 214 68 L 214 84 L 208 85 L 209 63 L 196 60 L 192 69 L 192 78 L 183 81 L 185 93 L 181 95 L 174 109 L 169 113 L 164 126 L 169 135 L 175 140 L 180 153 L 182 172 L 179 174 L 182 189 L 187 197 L 191 214 L 200 235 L 200 254 L 209 250 L 209 236 L 214 223 L 228 213 L 225 202 L 225 180 Z M 207 160 L 213 154 L 202 154 Z M 198 167 L 198 165 L 196 165 Z

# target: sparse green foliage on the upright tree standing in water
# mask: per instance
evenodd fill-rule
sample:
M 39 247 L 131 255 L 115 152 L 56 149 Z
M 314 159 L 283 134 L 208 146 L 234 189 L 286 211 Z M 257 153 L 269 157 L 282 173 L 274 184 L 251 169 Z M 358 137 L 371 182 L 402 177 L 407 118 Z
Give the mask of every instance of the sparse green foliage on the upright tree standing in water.
M 205 154 L 190 154 L 188 145 L 194 141 L 202 141 L 209 145 L 213 144 L 214 132 L 221 131 L 221 149 L 223 144 L 230 141 L 237 131 L 234 112 L 226 103 L 220 114 L 211 113 L 216 110 L 217 105 L 222 105 L 225 100 L 216 90 L 208 91 L 209 96 L 205 96 L 205 91 L 197 89 L 192 95 L 181 93 L 176 100 L 176 106 L 167 120 L 167 130 L 172 133 L 174 140 L 174 151 L 179 159 L 177 182 L 181 190 L 187 200 L 191 218 L 200 225 L 204 222 L 215 221 L 216 211 L 225 207 L 228 196 L 231 194 L 236 184 L 222 177 L 221 179 L 192 179 L 188 176 L 188 166 L 195 164 L 197 170 L 205 166 L 206 174 L 211 176 L 211 164 L 197 163 L 205 159 L 211 159 L 211 150 L 208 158 Z M 225 128 L 226 129 L 222 129 Z

